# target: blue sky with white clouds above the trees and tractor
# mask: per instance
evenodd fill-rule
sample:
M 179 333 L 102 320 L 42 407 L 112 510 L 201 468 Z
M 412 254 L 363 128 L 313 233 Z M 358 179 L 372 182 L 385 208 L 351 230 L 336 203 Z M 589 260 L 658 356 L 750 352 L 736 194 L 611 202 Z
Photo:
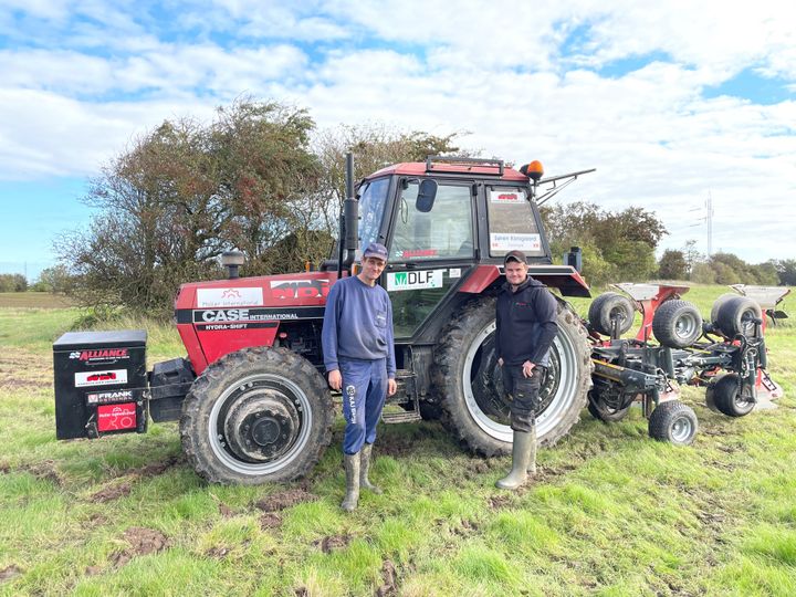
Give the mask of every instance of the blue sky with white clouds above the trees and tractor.
M 165 2 L 0 8 L 0 273 L 86 227 L 87 180 L 167 118 L 242 94 L 323 132 L 449 134 L 486 157 L 596 167 L 556 200 L 654 210 L 751 262 L 796 258 L 796 9 L 672 0 Z

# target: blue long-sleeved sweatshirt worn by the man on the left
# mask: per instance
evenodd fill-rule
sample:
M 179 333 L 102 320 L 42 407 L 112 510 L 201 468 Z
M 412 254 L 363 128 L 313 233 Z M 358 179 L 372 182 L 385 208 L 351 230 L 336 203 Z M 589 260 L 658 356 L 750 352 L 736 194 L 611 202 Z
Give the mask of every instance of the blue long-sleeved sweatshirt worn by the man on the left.
M 392 305 L 387 291 L 368 286 L 356 275 L 338 280 L 329 291 L 321 333 L 327 371 L 339 369 L 338 358 L 387 359 L 387 377 L 395 378 Z

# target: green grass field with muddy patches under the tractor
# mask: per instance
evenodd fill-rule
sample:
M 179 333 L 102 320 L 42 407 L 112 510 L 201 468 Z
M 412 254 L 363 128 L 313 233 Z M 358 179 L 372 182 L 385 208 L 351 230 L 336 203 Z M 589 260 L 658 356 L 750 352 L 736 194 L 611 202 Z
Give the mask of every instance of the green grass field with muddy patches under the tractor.
M 687 298 L 708 315 L 724 292 Z M 638 409 L 610 426 L 584 411 L 507 493 L 509 458 L 437 423 L 383 426 L 385 493 L 346 515 L 339 416 L 291 485 L 202 482 L 174 423 L 57 442 L 51 343 L 77 317 L 0 307 L 0 595 L 796 595 L 793 324 L 767 336 L 779 408 L 731 420 L 687 388 L 692 447 L 650 440 Z M 150 360 L 182 355 L 170 328 L 118 326 L 148 328 Z

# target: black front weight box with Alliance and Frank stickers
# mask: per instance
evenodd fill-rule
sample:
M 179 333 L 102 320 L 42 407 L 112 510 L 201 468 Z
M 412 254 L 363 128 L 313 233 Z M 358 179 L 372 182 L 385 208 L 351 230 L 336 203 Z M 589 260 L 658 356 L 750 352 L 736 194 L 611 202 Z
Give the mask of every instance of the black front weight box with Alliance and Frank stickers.
M 67 332 L 53 343 L 57 439 L 144 433 L 146 332 Z

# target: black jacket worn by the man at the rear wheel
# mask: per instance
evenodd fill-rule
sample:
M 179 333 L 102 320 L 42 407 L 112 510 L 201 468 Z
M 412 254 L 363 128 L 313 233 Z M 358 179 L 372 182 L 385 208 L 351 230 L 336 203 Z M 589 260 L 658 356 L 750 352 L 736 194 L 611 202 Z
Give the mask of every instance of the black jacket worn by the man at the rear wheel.
M 557 304 L 547 287 L 528 276 L 512 292 L 503 285 L 498 295 L 495 346 L 506 365 L 549 365 L 549 348 L 558 332 Z

